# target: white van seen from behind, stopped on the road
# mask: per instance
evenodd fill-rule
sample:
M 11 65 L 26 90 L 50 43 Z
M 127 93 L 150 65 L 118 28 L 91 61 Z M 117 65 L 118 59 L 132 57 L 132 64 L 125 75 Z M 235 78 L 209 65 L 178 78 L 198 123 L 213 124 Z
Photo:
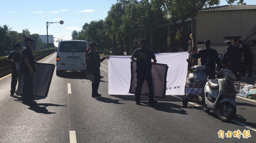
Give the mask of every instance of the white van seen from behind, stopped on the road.
M 68 40 L 60 41 L 56 56 L 56 75 L 67 70 L 86 70 L 85 50 L 88 47 L 87 41 Z

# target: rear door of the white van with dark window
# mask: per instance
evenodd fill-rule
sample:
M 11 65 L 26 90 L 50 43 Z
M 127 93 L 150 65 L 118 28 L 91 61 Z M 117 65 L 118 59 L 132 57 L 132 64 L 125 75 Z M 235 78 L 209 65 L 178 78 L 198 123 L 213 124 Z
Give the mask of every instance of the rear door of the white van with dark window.
M 81 41 L 62 41 L 60 43 L 59 56 L 60 67 L 83 68 L 85 64 L 86 42 Z

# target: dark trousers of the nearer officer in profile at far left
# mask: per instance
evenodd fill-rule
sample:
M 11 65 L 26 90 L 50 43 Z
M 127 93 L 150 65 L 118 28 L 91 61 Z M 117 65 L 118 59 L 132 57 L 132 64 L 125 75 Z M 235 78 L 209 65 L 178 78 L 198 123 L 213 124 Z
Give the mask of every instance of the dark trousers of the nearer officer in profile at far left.
M 23 73 L 24 84 L 22 90 L 22 100 L 25 102 L 33 101 L 33 76 L 29 72 Z

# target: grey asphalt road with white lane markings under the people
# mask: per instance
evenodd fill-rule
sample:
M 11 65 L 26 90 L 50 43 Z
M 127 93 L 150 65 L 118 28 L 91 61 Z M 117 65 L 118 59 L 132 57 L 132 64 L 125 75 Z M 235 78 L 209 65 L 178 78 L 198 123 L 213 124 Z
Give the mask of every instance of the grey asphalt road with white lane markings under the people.
M 41 60 L 55 64 L 56 53 Z M 182 96 L 135 104 L 131 95 L 108 95 L 108 61 L 102 62 L 100 98 L 79 72 L 53 74 L 48 97 L 32 107 L 10 96 L 11 76 L 0 79 L 0 143 L 255 143 L 256 102 L 236 98 L 237 115 L 221 122 L 215 112 L 182 106 Z M 68 90 L 70 85 L 70 90 Z M 71 92 L 71 94 L 68 94 Z M 249 130 L 251 137 L 219 138 L 218 132 Z

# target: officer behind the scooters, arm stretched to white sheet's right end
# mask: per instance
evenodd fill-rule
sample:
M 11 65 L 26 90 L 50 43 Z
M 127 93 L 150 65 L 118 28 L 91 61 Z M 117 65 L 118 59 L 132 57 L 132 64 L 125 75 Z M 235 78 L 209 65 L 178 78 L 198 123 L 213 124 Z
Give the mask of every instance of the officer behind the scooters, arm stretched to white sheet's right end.
M 221 69 L 221 61 L 219 59 L 217 50 L 212 49 L 210 45 L 211 45 L 211 41 L 209 39 L 206 39 L 204 41 L 204 46 L 205 46 L 204 49 L 199 50 L 198 53 L 195 53 L 195 54 L 192 53 L 191 51 L 189 51 L 189 53 L 191 54 L 192 58 L 195 58 L 195 59 L 201 58 L 201 65 L 205 65 L 206 67 L 209 68 L 205 70 L 206 75 L 208 76 L 209 79 L 215 79 L 215 67 L 217 64 L 218 69 Z M 207 63 L 207 59 L 210 59 L 208 63 Z

